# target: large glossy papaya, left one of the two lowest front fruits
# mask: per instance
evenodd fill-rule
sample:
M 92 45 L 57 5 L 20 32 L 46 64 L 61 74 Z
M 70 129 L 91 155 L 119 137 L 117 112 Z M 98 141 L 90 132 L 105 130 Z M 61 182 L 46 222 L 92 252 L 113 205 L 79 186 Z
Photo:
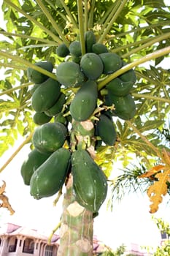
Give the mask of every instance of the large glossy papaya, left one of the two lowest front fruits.
M 59 148 L 31 176 L 30 193 L 36 199 L 50 197 L 64 184 L 69 170 L 70 152 Z

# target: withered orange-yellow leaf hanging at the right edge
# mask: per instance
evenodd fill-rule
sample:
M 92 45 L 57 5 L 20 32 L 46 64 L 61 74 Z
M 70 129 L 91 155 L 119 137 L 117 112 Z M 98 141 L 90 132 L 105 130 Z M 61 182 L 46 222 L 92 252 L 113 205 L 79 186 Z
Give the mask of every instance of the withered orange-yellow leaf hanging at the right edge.
M 157 173 L 155 175 L 158 181 L 155 181 L 147 189 L 147 195 L 150 197 L 152 204 L 150 205 L 150 213 L 153 214 L 158 211 L 158 206 L 163 200 L 163 196 L 167 194 L 167 181 L 169 181 L 170 169 L 166 169 L 163 173 Z

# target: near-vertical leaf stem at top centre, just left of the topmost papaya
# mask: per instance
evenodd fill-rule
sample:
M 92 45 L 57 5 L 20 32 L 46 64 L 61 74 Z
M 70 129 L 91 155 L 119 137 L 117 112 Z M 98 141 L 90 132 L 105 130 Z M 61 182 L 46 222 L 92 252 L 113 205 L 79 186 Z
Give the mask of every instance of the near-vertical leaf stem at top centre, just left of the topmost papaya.
M 77 11 L 78 11 L 78 20 L 79 20 L 80 44 L 81 44 L 82 55 L 84 55 L 85 54 L 85 33 L 84 33 L 83 9 L 82 9 L 81 0 L 77 0 Z

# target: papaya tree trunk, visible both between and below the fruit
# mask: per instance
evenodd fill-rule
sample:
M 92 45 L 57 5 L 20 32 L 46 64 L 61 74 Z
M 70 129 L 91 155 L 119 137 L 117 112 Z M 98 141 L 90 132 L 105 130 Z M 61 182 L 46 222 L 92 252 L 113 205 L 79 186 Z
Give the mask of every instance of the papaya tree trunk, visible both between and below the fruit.
M 94 154 L 93 122 L 72 122 L 71 148 L 86 148 Z M 93 255 L 93 212 L 77 203 L 73 193 L 73 176 L 66 183 L 63 197 L 63 214 L 61 216 L 60 246 L 57 256 L 91 256 Z

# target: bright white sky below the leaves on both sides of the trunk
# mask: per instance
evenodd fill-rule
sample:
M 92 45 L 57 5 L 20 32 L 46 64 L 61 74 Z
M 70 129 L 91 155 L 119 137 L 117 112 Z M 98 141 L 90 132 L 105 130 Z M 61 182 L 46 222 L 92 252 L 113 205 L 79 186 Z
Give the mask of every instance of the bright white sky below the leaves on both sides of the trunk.
M 0 13 L 0 17 L 1 13 Z M 1 21 L 1 20 L 0 20 Z M 0 159 L 0 167 L 4 165 L 10 155 L 20 145 L 20 138 L 16 145 L 7 151 Z M 34 228 L 49 236 L 60 221 L 62 213 L 62 197 L 57 206 L 53 206 L 53 197 L 35 200 L 29 193 L 29 187 L 23 184 L 20 167 L 28 155 L 29 148 L 24 148 L 18 156 L 0 173 L 0 186 L 2 181 L 7 182 L 6 195 L 15 210 L 10 215 L 5 208 L 0 208 L 0 226 L 6 222 Z M 117 170 L 116 165 L 113 170 Z M 108 200 L 108 198 L 107 198 Z M 126 195 L 123 200 L 114 203 L 113 211 L 107 210 L 107 200 L 101 206 L 99 216 L 94 219 L 94 235 L 104 244 L 117 248 L 121 244 L 137 243 L 142 246 L 158 246 L 160 233 L 152 220 L 150 201 L 147 195 Z M 169 198 L 164 197 L 155 217 L 163 218 L 170 223 Z M 57 231 L 58 233 L 58 231 Z

